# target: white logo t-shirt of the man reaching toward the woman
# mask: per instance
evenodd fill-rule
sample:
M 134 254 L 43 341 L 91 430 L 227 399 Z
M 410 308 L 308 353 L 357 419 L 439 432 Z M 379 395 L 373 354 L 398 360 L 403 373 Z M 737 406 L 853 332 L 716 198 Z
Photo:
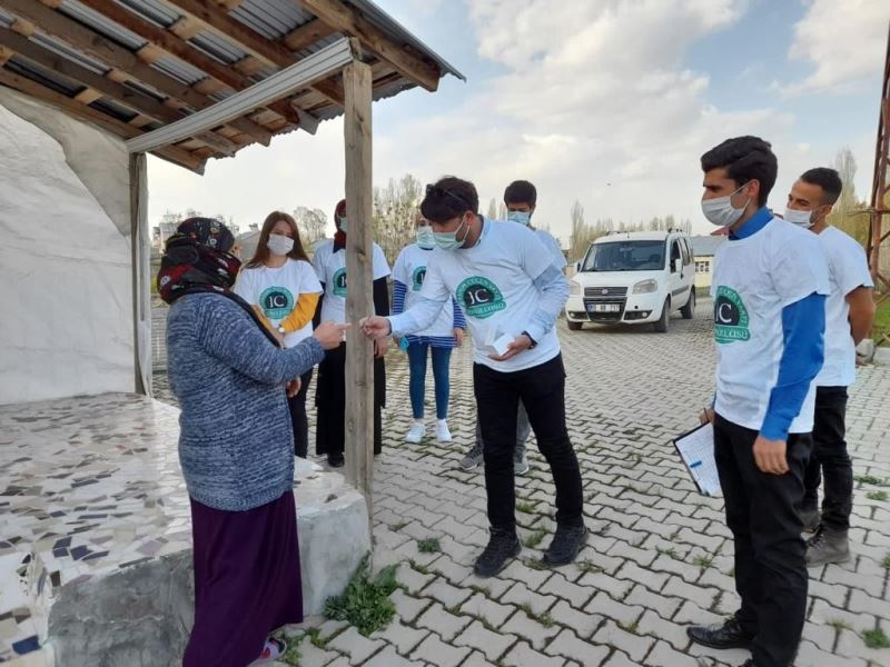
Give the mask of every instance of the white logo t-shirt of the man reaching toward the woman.
M 515 338 L 528 327 L 541 295 L 534 280 L 552 266 L 553 256 L 531 229 L 486 219 L 475 247 L 432 251 L 421 296 L 437 301 L 454 297 L 473 335 L 476 364 L 504 372 L 523 370 L 560 354 L 555 327 L 536 347 L 505 361 L 491 359 L 484 344 L 503 335 Z

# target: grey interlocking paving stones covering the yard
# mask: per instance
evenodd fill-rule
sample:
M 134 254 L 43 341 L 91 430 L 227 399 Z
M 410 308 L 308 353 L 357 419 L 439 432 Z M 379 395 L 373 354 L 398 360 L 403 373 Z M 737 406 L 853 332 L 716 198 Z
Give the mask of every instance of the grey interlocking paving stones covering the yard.
M 386 442 L 375 472 L 375 567 L 398 563 L 397 619 L 370 638 L 344 624 L 310 619 L 304 666 L 442 667 L 741 665 L 744 650 L 692 645 L 690 623 L 738 604 L 732 542 L 722 501 L 700 496 L 670 445 L 693 426 L 713 391 L 710 301 L 669 334 L 642 328 L 568 331 L 560 323 L 567 370 L 568 430 L 578 454 L 592 536 L 578 561 L 546 569 L 554 488 L 528 447 L 517 478 L 522 555 L 493 579 L 472 574 L 487 539 L 481 470 L 457 467 L 474 426 L 471 355 L 452 361 L 454 441 L 403 441 L 411 421 L 404 355 L 388 359 Z M 890 649 L 862 634 L 890 635 L 890 369 L 866 367 L 851 392 L 854 558 L 810 570 L 810 604 L 798 667 L 890 665 Z M 427 404 L 432 402 L 432 385 Z M 432 426 L 432 418 L 428 418 Z M 432 428 L 427 428 L 431 431 Z M 886 489 L 890 491 L 890 488 Z M 436 538 L 438 552 L 418 541 Z M 320 625 L 319 625 L 320 624 Z

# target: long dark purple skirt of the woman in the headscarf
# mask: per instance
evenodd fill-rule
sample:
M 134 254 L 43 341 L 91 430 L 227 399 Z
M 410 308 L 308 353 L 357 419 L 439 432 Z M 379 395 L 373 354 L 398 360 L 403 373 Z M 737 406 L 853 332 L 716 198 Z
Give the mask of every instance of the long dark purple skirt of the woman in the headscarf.
M 294 494 L 247 511 L 191 500 L 195 626 L 182 667 L 245 667 L 269 633 L 303 621 Z

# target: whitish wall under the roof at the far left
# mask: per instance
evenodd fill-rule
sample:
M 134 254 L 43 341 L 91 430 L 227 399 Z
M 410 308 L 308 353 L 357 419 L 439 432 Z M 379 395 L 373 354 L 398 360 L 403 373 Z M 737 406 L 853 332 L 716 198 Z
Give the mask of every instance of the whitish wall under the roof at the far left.
M 132 391 L 123 143 L 0 88 L 0 404 Z

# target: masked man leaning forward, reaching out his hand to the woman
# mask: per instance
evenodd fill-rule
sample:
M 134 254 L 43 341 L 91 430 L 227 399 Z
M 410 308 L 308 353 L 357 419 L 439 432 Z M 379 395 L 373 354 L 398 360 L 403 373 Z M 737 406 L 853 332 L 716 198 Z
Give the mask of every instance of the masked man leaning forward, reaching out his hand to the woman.
M 421 212 L 437 248 L 421 300 L 402 315 L 362 321 L 369 338 L 428 327 L 454 297 L 473 334 L 473 384 L 485 441 L 491 537 L 476 559 L 481 577 L 500 573 L 521 551 L 516 536 L 513 451 L 516 411 L 525 404 L 537 446 L 556 486 L 556 535 L 544 561 L 565 565 L 587 540 L 581 472 L 565 426 L 565 370 L 554 325 L 568 283 L 528 229 L 477 213 L 473 183 L 446 177 L 427 186 Z

